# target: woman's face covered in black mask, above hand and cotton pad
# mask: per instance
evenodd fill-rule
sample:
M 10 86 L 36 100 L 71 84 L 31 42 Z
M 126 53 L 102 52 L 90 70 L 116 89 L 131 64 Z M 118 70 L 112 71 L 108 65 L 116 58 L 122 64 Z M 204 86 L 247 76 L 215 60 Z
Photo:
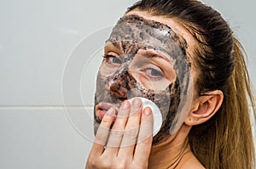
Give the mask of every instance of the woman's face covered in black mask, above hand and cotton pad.
M 160 109 L 160 143 L 182 126 L 193 98 L 187 43 L 167 25 L 137 15 L 120 19 L 106 42 L 95 94 L 95 132 L 99 112 L 142 97 Z M 154 114 L 154 112 L 153 112 Z

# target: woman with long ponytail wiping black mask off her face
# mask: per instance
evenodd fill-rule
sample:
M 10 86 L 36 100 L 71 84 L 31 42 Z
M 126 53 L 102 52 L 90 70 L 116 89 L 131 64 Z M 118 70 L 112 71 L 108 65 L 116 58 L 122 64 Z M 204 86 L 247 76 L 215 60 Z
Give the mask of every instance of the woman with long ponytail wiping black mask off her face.
M 243 54 L 221 15 L 199 1 L 134 4 L 106 42 L 85 168 L 253 169 Z M 126 100 L 137 96 L 160 108 L 154 137 L 154 110 Z

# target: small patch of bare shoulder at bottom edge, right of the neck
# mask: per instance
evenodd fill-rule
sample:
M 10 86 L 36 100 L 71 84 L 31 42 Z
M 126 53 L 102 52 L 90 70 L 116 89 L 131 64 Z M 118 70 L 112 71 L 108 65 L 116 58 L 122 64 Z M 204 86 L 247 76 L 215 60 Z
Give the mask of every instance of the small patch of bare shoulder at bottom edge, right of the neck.
M 192 152 L 184 155 L 178 166 L 177 168 L 179 169 L 206 169 L 201 165 L 201 162 L 195 158 Z

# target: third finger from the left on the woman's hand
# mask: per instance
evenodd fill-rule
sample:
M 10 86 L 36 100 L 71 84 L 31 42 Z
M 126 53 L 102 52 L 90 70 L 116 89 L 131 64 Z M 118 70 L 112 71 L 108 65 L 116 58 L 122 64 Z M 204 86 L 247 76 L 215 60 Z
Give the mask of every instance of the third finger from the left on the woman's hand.
M 142 113 L 142 102 L 140 99 L 134 99 L 131 104 L 129 119 L 125 126 L 124 137 L 119 149 L 119 155 L 133 155 L 135 144 L 137 143 L 137 134 Z

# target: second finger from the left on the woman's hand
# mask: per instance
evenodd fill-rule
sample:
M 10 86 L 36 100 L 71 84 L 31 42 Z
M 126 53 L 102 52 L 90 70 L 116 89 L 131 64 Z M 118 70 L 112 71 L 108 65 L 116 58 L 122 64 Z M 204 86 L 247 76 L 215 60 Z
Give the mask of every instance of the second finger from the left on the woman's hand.
M 125 125 L 130 113 L 131 104 L 128 100 L 121 105 L 119 109 L 118 116 L 113 123 L 113 127 L 108 137 L 107 149 L 105 149 L 105 153 L 109 155 L 117 155 L 119 151 L 119 146 L 122 142 Z

